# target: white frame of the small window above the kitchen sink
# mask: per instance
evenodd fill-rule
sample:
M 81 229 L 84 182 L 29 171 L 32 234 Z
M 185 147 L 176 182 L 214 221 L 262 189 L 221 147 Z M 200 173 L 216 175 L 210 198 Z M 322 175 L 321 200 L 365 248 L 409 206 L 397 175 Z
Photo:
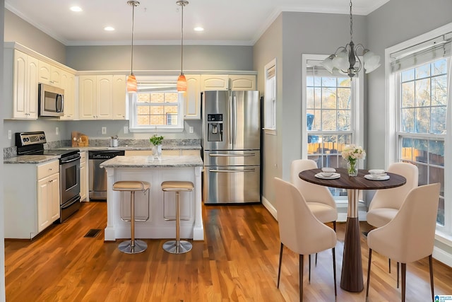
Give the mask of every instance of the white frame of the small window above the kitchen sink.
M 174 90 L 176 90 L 177 77 L 175 76 L 136 76 L 137 81 L 146 81 L 148 83 L 153 83 L 155 85 L 159 83 L 174 83 Z M 128 103 L 129 103 L 129 132 L 149 132 L 154 133 L 155 131 L 159 133 L 167 132 L 183 132 L 184 131 L 184 98 L 186 93 L 178 93 L 177 102 L 177 125 L 150 125 L 145 127 L 140 127 L 136 124 L 136 112 L 137 112 L 137 94 L 128 93 Z M 175 104 L 174 104 L 175 105 Z

